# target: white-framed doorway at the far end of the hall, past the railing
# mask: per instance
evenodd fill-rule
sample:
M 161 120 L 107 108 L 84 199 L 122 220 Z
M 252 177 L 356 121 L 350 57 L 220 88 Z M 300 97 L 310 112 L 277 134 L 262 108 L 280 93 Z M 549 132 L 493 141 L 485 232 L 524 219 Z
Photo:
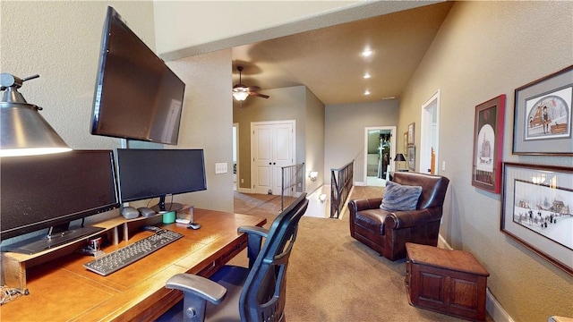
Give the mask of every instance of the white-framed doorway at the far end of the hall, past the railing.
M 364 185 L 384 187 L 389 180 L 389 173 L 394 171 L 395 133 L 396 126 L 364 129 Z

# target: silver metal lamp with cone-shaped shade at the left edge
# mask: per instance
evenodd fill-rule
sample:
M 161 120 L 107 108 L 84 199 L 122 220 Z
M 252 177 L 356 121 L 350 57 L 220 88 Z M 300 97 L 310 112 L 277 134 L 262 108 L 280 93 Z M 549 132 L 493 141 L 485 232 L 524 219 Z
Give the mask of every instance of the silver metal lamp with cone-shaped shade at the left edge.
M 0 157 L 31 156 L 70 151 L 71 148 L 38 113 L 42 108 L 28 104 L 18 88 L 25 80 L 0 74 L 4 94 L 0 100 Z

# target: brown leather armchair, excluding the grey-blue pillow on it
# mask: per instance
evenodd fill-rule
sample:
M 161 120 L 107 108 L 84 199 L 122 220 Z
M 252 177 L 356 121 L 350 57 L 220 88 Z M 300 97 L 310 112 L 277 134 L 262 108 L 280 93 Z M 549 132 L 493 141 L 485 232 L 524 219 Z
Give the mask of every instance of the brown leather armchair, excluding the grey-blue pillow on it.
M 439 175 L 397 172 L 392 181 L 421 186 L 415 210 L 386 211 L 382 198 L 350 200 L 350 235 L 390 260 L 406 258 L 406 242 L 436 246 L 449 179 Z

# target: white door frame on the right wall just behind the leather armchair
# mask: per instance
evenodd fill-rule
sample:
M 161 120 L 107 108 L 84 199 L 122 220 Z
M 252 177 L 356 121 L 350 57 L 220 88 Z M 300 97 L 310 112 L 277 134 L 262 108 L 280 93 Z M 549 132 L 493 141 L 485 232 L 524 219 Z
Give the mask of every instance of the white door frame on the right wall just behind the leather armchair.
M 432 107 L 435 106 L 435 110 Z M 418 169 L 420 173 L 430 174 L 432 167 L 432 146 L 435 147 L 434 169 L 435 174 L 439 174 L 440 159 L 440 89 L 432 97 L 428 98 L 422 105 L 420 129 L 420 152 L 418 153 L 420 163 Z

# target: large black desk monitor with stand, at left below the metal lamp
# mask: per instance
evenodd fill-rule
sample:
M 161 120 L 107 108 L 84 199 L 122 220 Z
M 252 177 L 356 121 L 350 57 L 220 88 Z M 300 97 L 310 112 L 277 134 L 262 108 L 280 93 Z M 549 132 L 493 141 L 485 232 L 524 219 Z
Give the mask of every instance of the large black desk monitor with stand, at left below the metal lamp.
M 97 233 L 69 224 L 119 207 L 111 150 L 3 157 L 0 177 L 0 240 L 50 228 L 3 250 L 31 254 Z

